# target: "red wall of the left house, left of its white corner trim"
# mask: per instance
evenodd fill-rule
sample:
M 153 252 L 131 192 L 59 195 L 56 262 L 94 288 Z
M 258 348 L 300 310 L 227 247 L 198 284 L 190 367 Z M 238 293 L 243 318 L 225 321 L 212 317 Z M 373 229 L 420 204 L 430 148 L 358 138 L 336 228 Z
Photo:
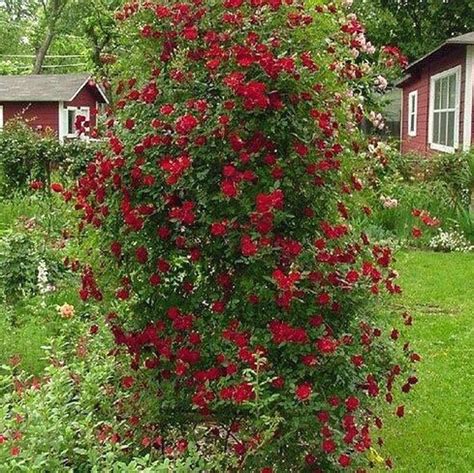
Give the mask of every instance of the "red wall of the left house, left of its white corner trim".
M 13 118 L 27 121 L 33 128 L 51 129 L 58 134 L 59 112 L 57 102 L 3 102 L 4 124 Z

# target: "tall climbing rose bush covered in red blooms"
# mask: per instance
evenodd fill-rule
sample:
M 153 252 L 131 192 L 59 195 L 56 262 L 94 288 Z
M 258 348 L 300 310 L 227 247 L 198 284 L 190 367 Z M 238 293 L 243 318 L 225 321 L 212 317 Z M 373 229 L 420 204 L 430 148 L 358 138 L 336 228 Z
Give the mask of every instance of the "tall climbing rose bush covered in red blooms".
M 378 327 L 392 251 L 351 223 L 375 161 L 360 124 L 380 126 L 364 103 L 404 59 L 374 51 L 350 3 L 118 13 L 130 77 L 74 198 L 117 278 L 99 288 L 87 268 L 81 297 L 108 301 L 131 357 L 126 444 L 192 444 L 208 471 L 362 471 L 377 398 L 416 383 L 418 355 Z

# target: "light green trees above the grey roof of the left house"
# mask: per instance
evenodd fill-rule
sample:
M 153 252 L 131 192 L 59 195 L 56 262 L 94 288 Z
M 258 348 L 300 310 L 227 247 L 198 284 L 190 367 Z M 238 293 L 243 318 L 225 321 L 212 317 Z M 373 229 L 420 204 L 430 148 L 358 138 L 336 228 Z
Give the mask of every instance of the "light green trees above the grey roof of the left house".
M 99 71 L 112 49 L 121 0 L 5 0 L 0 74 Z

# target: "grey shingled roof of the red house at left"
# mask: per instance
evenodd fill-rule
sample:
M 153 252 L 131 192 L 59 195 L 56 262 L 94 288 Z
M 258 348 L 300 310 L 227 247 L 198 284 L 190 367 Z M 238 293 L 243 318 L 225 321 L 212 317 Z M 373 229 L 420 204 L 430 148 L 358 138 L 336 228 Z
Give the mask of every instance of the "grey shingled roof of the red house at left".
M 87 72 L 0 76 L 0 102 L 70 102 L 90 79 Z M 107 102 L 104 92 L 96 87 Z

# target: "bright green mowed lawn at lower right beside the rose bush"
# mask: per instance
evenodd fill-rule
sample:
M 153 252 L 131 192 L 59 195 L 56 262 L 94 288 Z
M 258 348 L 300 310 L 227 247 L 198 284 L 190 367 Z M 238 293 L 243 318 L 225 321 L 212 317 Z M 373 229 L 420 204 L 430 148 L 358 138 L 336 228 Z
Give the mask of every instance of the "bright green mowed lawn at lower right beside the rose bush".
M 474 472 L 474 254 L 398 258 L 409 339 L 422 355 L 406 415 L 387 422 L 395 471 Z

